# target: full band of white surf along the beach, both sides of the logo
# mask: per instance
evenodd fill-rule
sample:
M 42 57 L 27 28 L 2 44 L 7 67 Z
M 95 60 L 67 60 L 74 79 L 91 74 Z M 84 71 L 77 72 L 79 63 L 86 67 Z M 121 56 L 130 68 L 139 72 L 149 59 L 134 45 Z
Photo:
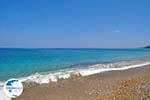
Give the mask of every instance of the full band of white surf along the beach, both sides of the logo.
M 48 84 L 50 82 L 57 82 L 61 79 L 68 79 L 72 76 L 89 76 L 102 72 L 116 71 L 116 70 L 127 70 L 130 68 L 137 68 L 142 66 L 150 65 L 148 60 L 145 61 L 121 61 L 106 64 L 93 64 L 86 67 L 68 68 L 56 71 L 48 72 L 37 72 L 31 75 L 17 78 L 23 83 L 37 83 L 37 84 Z M 10 79 L 10 78 L 9 78 Z M 37 80 L 36 80 L 37 79 Z M 3 86 L 6 80 L 0 81 L 0 86 Z

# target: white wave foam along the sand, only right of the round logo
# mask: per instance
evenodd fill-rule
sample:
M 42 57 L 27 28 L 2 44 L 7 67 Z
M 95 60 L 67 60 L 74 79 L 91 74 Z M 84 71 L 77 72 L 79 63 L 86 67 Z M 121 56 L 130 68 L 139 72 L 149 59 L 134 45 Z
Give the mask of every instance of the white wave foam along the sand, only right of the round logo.
M 129 68 L 142 67 L 150 65 L 150 62 L 119 62 L 111 64 L 96 64 L 86 68 L 68 69 L 59 72 L 47 73 L 47 74 L 34 74 L 26 78 L 22 78 L 22 82 L 35 82 L 38 84 L 46 84 L 49 82 L 57 82 L 59 79 L 67 79 L 71 75 L 88 76 L 100 72 L 111 71 L 111 70 L 126 70 Z

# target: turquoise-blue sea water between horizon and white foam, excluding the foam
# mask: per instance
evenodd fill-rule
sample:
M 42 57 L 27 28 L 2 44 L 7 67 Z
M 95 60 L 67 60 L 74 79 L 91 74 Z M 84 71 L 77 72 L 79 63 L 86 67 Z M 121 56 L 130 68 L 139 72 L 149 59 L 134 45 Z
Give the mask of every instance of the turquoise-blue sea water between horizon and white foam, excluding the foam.
M 0 49 L 0 81 L 94 64 L 145 61 L 150 49 Z

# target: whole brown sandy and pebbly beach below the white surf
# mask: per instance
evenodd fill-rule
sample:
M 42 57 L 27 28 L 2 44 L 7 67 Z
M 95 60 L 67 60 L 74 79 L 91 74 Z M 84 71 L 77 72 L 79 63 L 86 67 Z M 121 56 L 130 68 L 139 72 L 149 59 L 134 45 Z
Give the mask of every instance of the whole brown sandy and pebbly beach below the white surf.
M 35 84 L 13 100 L 150 100 L 149 93 L 150 66 L 143 66 Z

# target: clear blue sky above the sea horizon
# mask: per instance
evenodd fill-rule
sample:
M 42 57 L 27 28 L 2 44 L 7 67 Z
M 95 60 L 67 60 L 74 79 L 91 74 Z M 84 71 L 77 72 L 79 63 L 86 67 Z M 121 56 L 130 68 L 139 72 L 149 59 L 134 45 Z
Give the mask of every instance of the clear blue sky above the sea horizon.
M 150 0 L 0 0 L 0 47 L 150 44 Z

